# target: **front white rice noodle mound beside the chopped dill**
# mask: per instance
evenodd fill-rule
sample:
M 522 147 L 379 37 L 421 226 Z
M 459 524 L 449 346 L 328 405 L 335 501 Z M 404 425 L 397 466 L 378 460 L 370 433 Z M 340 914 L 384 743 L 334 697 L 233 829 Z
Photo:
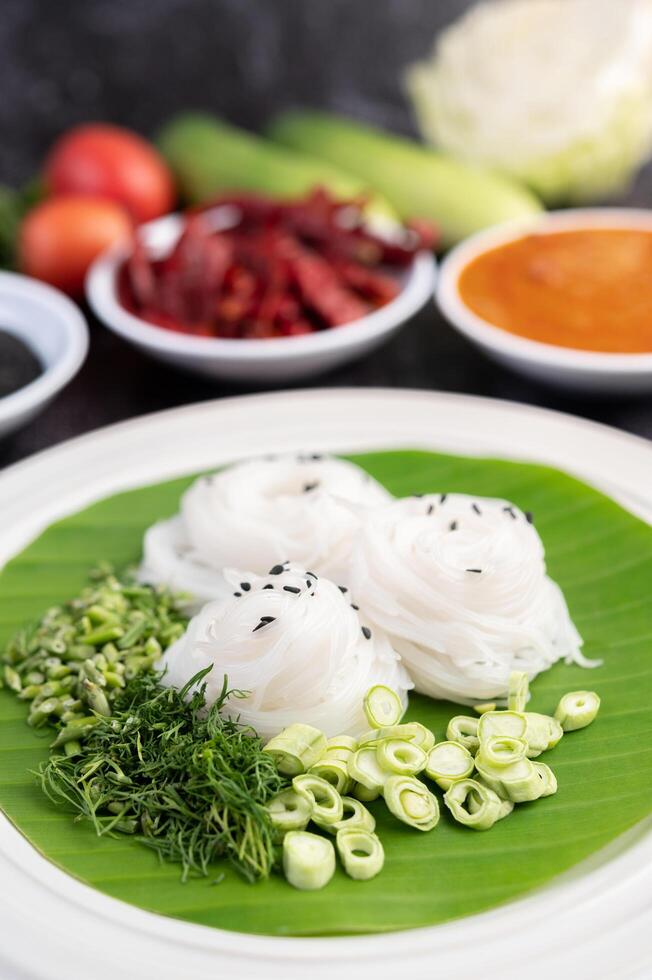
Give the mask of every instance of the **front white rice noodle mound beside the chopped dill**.
M 223 713 L 264 738 L 292 722 L 328 736 L 359 734 L 369 727 L 363 698 L 376 683 L 392 687 L 405 705 L 410 679 L 383 631 L 363 630 L 348 591 L 296 566 L 275 571 L 227 572 L 235 594 L 190 621 L 162 658 L 163 683 L 181 688 L 212 665 L 207 702 L 226 676 L 230 689 L 248 694 L 230 698 Z

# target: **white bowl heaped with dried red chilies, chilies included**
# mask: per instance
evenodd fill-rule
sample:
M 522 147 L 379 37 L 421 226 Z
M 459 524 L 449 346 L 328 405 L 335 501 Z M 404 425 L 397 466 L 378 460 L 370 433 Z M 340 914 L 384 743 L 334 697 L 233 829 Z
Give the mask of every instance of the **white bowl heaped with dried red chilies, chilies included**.
M 109 329 L 214 378 L 308 377 L 384 343 L 432 296 L 434 233 L 372 230 L 362 202 L 232 195 L 138 229 L 91 266 Z

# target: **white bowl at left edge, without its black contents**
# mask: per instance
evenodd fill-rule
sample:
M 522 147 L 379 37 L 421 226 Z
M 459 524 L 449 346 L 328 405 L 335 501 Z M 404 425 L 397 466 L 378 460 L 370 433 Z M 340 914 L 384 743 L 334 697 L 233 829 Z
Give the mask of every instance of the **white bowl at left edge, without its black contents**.
M 0 398 L 0 436 L 25 425 L 68 384 L 84 362 L 88 328 L 58 289 L 14 272 L 0 272 L 0 329 L 13 334 L 41 362 L 42 374 Z

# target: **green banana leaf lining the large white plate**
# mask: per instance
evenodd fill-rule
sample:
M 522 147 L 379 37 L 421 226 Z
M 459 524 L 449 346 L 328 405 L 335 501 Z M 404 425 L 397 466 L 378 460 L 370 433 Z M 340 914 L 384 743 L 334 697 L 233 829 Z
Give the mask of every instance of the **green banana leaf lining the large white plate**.
M 460 491 L 506 497 L 534 513 L 551 575 L 567 596 L 593 671 L 557 665 L 533 684 L 534 710 L 591 688 L 602 710 L 545 756 L 556 796 L 516 808 L 488 833 L 447 814 L 429 834 L 374 806 L 383 873 L 366 883 L 338 869 L 321 892 L 282 878 L 247 884 L 230 868 L 186 884 L 129 838 L 98 839 L 42 795 L 30 770 L 49 738 L 25 724 L 25 706 L 0 691 L 0 807 L 50 861 L 114 898 L 191 922 L 271 935 L 341 935 L 432 925 L 499 905 L 543 885 L 652 811 L 652 529 L 613 501 L 555 470 L 420 452 L 356 457 L 393 493 Z M 119 494 L 49 528 L 0 575 L 0 640 L 79 590 L 104 558 L 139 558 L 152 521 L 173 513 L 189 479 Z M 413 697 L 410 717 L 443 736 L 453 705 Z

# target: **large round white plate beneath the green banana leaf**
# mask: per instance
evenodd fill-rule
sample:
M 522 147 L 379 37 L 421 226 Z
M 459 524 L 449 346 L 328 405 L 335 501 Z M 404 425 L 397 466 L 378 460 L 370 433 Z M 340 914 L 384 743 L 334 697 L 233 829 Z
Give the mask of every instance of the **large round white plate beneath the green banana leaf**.
M 53 520 L 128 487 L 270 450 L 400 447 L 550 463 L 652 514 L 652 444 L 634 436 L 465 395 L 299 391 L 146 416 L 12 467 L 0 476 L 0 564 Z M 651 831 L 645 821 L 551 886 L 482 915 L 379 936 L 277 939 L 192 925 L 108 898 L 59 871 L 2 820 L 0 976 L 643 980 L 652 975 Z

